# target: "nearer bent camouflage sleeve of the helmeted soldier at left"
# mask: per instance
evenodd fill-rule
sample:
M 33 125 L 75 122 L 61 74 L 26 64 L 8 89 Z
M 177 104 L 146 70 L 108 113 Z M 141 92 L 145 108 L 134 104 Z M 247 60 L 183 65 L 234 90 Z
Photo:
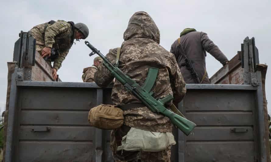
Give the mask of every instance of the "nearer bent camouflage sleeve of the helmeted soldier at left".
M 45 47 L 52 48 L 53 44 L 55 43 L 55 36 L 59 33 L 68 32 L 70 26 L 71 25 L 68 22 L 62 20 L 49 25 L 44 33 Z

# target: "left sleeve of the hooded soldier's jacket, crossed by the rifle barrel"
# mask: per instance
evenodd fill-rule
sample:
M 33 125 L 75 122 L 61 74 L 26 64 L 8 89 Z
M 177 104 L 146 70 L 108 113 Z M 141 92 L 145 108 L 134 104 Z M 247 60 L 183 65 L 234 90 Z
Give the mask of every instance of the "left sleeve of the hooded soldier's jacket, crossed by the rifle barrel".
M 116 56 L 117 56 L 117 49 L 110 49 L 109 52 L 106 55 L 106 58 L 110 62 L 115 62 Z M 107 87 L 114 79 L 114 76 L 111 74 L 111 72 L 101 63 L 98 66 L 98 70 L 94 75 L 94 81 L 95 83 L 100 87 Z

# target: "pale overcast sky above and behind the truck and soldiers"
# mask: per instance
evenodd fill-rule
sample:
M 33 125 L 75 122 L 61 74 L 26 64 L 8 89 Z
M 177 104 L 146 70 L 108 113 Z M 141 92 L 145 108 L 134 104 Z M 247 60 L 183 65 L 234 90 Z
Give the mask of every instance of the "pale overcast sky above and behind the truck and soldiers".
M 121 46 L 123 32 L 132 14 L 148 12 L 161 35 L 160 44 L 170 50 L 171 44 L 186 27 L 206 32 L 209 38 L 231 59 L 241 50 L 246 36 L 255 37 L 260 63 L 271 66 L 271 0 L 204 0 L 204 1 L 1 1 L 0 107 L 3 110 L 7 89 L 7 62 L 12 61 L 18 33 L 50 20 L 83 22 L 89 26 L 87 40 L 102 53 Z M 93 58 L 84 41 L 72 46 L 59 69 L 62 81 L 82 82 L 83 68 L 91 66 Z M 207 55 L 207 72 L 211 77 L 222 65 Z M 270 68 L 270 67 L 269 67 Z M 271 98 L 271 73 L 267 70 L 266 95 Z M 269 112 L 271 108 L 269 106 Z

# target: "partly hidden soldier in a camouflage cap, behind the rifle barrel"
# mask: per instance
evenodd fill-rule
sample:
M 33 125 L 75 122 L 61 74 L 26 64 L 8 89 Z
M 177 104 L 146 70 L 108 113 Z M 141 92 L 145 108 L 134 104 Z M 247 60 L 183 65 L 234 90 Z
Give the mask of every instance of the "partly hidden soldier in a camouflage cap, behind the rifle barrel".
M 83 69 L 83 82 L 94 82 L 94 74 L 97 72 L 97 68 L 101 62 L 103 62 L 103 59 L 97 56 L 94 58 L 92 66 Z

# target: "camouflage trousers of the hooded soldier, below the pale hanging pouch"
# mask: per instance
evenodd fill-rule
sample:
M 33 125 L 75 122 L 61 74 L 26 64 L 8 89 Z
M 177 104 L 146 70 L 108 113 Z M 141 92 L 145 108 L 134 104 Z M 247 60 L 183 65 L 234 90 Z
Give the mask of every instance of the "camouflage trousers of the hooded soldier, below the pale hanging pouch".
M 122 127 L 111 131 L 111 149 L 113 158 L 116 162 L 170 162 L 171 147 L 157 152 L 147 151 L 126 151 L 119 150 L 122 137 L 124 137 L 131 127 Z

